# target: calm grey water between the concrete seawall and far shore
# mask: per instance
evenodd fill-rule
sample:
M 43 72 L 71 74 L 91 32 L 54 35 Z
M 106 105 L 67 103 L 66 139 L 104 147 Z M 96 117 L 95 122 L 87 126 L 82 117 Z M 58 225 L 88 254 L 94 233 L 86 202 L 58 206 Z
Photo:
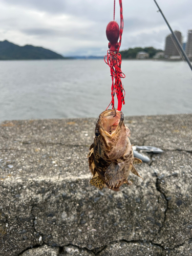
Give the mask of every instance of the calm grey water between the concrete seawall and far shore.
M 123 60 L 122 72 L 124 115 L 192 113 L 185 62 Z M 110 101 L 102 59 L 0 61 L 0 121 L 98 117 Z

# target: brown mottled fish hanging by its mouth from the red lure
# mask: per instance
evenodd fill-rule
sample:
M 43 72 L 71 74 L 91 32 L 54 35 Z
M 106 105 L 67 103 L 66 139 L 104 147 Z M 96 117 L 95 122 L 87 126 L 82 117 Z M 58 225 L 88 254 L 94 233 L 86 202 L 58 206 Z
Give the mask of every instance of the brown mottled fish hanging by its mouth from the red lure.
M 141 177 L 133 163 L 142 161 L 134 158 L 128 136 L 130 137 L 130 130 L 124 124 L 121 111 L 105 110 L 99 115 L 94 143 L 88 154 L 89 167 L 93 174 L 90 181 L 92 185 L 99 189 L 107 186 L 118 191 L 124 183 L 132 184 L 127 179 L 130 172 Z

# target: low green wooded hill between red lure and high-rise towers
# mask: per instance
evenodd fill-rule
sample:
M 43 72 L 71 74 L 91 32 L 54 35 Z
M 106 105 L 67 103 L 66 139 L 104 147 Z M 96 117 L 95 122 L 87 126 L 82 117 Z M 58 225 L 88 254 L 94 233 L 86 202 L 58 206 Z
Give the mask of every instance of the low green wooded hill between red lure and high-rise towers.
M 147 52 L 148 54 L 150 54 L 150 58 L 153 58 L 153 56 L 157 52 L 162 52 L 162 50 L 155 49 L 153 47 L 145 47 L 145 48 L 136 47 L 136 48 L 130 48 L 128 50 L 120 51 L 119 53 L 121 54 L 122 59 L 135 59 L 138 52 Z

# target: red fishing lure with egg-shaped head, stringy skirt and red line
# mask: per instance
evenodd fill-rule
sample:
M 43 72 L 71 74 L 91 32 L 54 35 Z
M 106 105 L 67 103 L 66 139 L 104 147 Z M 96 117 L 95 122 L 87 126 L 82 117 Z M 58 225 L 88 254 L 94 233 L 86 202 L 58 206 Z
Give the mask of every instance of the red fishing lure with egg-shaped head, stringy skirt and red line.
M 109 50 L 107 55 L 104 57 L 104 61 L 106 64 L 109 65 L 111 77 L 112 77 L 112 87 L 111 87 L 112 100 L 110 104 L 112 104 L 112 109 L 114 109 L 114 104 L 115 104 L 114 97 L 116 94 L 117 100 L 118 100 L 117 110 L 120 111 L 122 108 L 122 104 L 125 103 L 124 101 L 125 91 L 123 89 L 123 85 L 121 82 L 121 78 L 124 78 L 125 75 L 121 71 L 121 54 L 119 53 L 119 48 L 121 46 L 121 38 L 123 33 L 122 0 L 119 0 L 119 6 L 120 6 L 120 29 L 119 29 L 119 25 L 115 21 L 110 22 L 106 27 L 106 37 L 110 42 L 109 42 Z M 114 19 L 115 19 L 115 0 L 114 0 Z M 119 39 L 119 42 L 118 42 L 118 39 Z

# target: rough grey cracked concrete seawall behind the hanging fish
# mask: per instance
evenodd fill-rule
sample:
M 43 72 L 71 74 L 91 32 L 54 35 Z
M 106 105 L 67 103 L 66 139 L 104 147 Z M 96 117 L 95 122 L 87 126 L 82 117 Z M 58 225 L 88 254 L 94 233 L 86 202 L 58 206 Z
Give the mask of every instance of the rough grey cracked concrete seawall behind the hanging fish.
M 90 184 L 95 122 L 0 124 L 0 255 L 191 255 L 192 114 L 125 117 L 164 153 L 119 192 Z

